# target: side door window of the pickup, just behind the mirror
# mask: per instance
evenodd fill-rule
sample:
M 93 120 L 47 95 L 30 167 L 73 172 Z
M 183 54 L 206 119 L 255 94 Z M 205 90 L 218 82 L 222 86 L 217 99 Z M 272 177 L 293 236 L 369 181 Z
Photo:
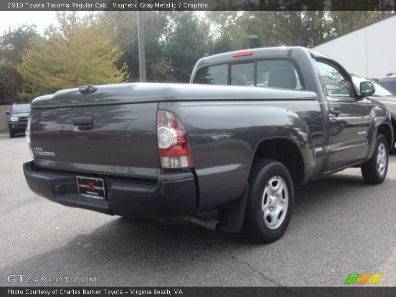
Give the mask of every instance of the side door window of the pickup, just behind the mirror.
M 316 61 L 327 95 L 330 97 L 353 97 L 352 85 L 334 66 Z

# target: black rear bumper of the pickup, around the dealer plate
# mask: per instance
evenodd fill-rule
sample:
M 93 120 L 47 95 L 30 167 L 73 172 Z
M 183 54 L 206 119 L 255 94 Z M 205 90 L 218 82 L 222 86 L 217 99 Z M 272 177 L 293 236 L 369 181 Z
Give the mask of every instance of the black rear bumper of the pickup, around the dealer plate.
M 191 172 L 162 174 L 156 183 L 104 177 L 106 201 L 81 197 L 76 174 L 35 168 L 34 161 L 24 163 L 23 172 L 35 194 L 67 206 L 139 218 L 186 216 L 197 208 L 196 183 Z

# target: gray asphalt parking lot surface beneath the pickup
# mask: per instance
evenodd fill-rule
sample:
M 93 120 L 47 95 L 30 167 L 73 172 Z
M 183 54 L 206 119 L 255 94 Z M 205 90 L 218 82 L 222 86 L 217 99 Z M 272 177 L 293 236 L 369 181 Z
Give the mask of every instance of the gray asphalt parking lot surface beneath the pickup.
M 0 148 L 0 286 L 341 286 L 349 273 L 382 273 L 377 286 L 396 285 L 396 155 L 382 185 L 365 185 L 352 168 L 297 188 L 285 235 L 256 245 L 183 219 L 133 220 L 50 202 L 25 183 L 24 137 L 1 135 Z M 9 275 L 62 282 L 9 283 Z

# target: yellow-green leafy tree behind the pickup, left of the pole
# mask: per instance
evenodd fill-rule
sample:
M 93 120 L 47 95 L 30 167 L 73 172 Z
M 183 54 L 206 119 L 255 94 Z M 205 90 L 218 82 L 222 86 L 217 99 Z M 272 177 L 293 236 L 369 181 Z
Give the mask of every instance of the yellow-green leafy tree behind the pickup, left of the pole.
M 82 85 L 120 83 L 127 68 L 115 61 L 122 52 L 114 45 L 113 27 L 93 15 L 57 14 L 58 27 L 50 26 L 44 42 L 27 50 L 17 70 L 23 78 L 21 98 Z

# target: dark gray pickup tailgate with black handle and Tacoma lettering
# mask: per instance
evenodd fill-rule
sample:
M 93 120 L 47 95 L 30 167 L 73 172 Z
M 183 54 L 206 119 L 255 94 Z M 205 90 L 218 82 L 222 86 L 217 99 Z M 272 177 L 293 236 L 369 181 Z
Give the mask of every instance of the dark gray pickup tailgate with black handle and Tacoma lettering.
M 45 107 L 32 104 L 31 142 L 35 164 L 56 170 L 156 179 L 157 102 L 85 105 L 94 94 L 73 92 L 70 104 L 56 94 Z M 79 98 L 80 97 L 80 98 Z M 43 101 L 38 100 L 43 104 Z M 111 98 L 107 102 L 111 102 Z

